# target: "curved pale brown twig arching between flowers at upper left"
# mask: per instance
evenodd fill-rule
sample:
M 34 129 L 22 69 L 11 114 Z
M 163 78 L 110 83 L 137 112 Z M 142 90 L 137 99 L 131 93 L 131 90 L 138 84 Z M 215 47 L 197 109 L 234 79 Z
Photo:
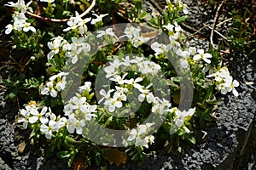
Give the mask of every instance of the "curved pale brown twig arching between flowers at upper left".
M 88 14 L 90 12 L 90 10 L 96 5 L 96 0 L 93 0 L 92 3 L 90 4 L 90 7 L 87 8 L 84 13 L 80 14 L 79 17 L 83 18 L 85 14 Z M 70 19 L 49 19 L 49 18 L 45 18 L 42 16 L 39 16 L 37 14 L 32 14 L 29 11 L 26 11 L 26 14 L 31 15 L 32 17 L 38 19 L 38 20 L 44 20 L 45 22 L 67 22 Z

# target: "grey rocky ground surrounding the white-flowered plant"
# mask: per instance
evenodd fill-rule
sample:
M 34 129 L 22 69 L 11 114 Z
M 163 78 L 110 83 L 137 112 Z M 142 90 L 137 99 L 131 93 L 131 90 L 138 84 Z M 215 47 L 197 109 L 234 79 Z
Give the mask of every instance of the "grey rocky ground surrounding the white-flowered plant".
M 187 4 L 189 20 L 183 24 L 183 29 L 189 32 L 190 39 L 194 39 L 191 44 L 209 48 L 217 8 L 190 0 Z M 218 23 L 229 19 L 224 11 L 218 15 Z M 230 22 L 225 22 L 216 30 L 225 36 L 228 26 Z M 212 41 L 218 44 L 222 38 L 215 32 Z M 218 96 L 218 122 L 207 126 L 205 139 L 179 156 L 166 155 L 160 150 L 154 156 L 148 155 L 143 164 L 129 162 L 109 169 L 256 169 L 256 61 L 247 54 L 225 54 L 224 57 L 232 76 L 241 84 L 240 96 Z M 2 69 L 0 75 L 0 80 L 10 77 L 11 69 Z M 44 146 L 29 144 L 29 133 L 15 124 L 18 106 L 14 101 L 4 100 L 6 90 L 0 86 L 0 169 L 68 169 L 57 158 L 46 159 Z M 25 148 L 22 141 L 26 142 Z

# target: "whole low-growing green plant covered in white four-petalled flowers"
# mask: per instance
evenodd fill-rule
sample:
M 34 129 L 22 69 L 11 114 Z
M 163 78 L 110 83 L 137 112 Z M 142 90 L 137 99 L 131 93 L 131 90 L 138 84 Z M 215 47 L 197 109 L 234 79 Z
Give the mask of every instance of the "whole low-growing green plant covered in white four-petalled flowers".
M 179 0 L 150 12 L 141 0 L 6 6 L 14 9 L 5 30 L 13 48 L 31 53 L 29 67 L 43 63 L 40 76 L 28 69 L 22 83 L 5 81 L 15 90 L 9 97 L 26 91 L 17 122 L 68 166 L 119 166 L 163 147 L 182 151 L 212 121 L 218 92 L 238 96 L 239 82 L 218 53 L 188 45 L 178 23 L 189 7 Z

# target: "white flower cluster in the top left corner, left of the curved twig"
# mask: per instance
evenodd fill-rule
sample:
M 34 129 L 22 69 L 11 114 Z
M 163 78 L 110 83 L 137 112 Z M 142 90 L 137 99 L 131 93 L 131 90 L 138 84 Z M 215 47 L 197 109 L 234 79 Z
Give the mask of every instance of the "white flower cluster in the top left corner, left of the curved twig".
M 9 34 L 13 30 L 25 32 L 36 31 L 36 29 L 31 26 L 31 23 L 27 22 L 27 18 L 25 16 L 26 10 L 32 12 L 32 8 L 29 7 L 31 3 L 32 1 L 30 1 L 29 3 L 25 3 L 24 0 L 18 0 L 17 3 L 9 2 L 8 4 L 6 4 L 9 7 L 13 7 L 15 9 L 15 12 L 13 14 L 14 24 L 9 24 L 6 26 L 5 34 Z

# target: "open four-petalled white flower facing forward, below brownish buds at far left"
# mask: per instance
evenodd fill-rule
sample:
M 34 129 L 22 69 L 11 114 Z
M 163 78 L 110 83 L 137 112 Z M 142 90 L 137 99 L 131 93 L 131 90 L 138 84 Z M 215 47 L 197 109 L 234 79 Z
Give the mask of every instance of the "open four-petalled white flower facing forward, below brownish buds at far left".
M 35 122 L 37 122 L 39 120 L 43 124 L 47 123 L 49 120 L 46 117 L 44 117 L 47 109 L 48 108 L 46 106 L 44 106 L 42 111 L 39 113 L 38 110 L 32 108 L 30 110 L 30 113 L 31 113 L 32 116 L 29 117 L 28 122 L 35 123 Z

